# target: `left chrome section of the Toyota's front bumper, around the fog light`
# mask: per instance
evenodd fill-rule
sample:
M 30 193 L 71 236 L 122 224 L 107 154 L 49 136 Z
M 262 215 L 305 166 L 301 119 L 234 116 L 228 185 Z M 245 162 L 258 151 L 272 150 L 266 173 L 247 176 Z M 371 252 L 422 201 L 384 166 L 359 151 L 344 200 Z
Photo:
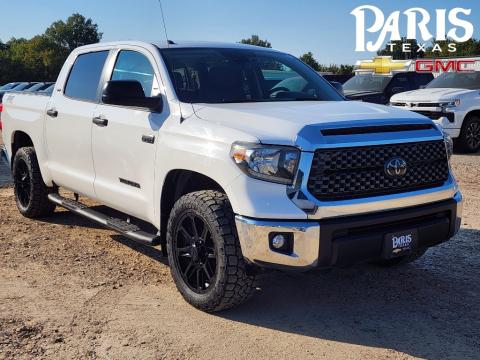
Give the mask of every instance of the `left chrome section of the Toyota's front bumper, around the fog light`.
M 235 216 L 243 256 L 253 263 L 270 263 L 297 268 L 317 265 L 320 246 L 320 225 L 315 222 L 269 221 Z M 270 249 L 271 232 L 291 232 L 294 249 L 290 255 Z

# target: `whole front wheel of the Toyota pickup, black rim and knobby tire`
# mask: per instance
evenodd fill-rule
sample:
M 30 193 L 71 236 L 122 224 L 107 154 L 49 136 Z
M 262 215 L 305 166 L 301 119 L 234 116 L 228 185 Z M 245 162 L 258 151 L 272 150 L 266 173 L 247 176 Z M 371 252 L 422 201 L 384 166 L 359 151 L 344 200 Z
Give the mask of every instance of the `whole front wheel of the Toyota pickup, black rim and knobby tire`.
M 237 306 L 255 290 L 225 194 L 206 190 L 182 196 L 167 228 L 168 260 L 178 290 L 207 312 Z

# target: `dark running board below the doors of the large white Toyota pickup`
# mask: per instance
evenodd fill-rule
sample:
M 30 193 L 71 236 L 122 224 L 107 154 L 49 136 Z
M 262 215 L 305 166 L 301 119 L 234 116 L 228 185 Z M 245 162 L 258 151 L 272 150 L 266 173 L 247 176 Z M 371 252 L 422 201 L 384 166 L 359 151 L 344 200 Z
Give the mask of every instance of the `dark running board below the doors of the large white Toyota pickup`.
M 75 200 L 64 198 L 58 194 L 48 194 L 48 199 L 75 214 L 81 215 L 89 220 L 114 230 L 125 237 L 143 245 L 155 246 L 160 244 L 160 236 L 147 233 L 137 225 L 130 224 L 124 220 L 113 218 L 90 209 Z

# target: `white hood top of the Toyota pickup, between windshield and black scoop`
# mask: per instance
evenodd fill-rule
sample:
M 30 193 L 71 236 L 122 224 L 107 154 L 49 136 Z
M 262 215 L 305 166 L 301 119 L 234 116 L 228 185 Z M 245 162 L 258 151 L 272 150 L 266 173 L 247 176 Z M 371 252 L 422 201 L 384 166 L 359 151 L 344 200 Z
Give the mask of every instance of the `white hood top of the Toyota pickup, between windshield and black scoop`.
M 294 144 L 307 125 L 422 118 L 408 110 L 357 101 L 193 104 L 193 109 L 203 120 L 247 133 L 264 143 L 285 145 Z

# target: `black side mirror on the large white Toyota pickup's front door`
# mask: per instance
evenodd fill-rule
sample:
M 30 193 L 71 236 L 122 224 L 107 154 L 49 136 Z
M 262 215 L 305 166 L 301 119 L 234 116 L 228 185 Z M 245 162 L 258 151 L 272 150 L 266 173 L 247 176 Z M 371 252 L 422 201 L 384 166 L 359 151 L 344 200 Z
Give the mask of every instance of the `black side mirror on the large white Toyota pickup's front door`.
M 110 80 L 103 89 L 102 101 L 105 104 L 146 108 L 162 111 L 162 98 L 146 97 L 142 85 L 136 80 Z

